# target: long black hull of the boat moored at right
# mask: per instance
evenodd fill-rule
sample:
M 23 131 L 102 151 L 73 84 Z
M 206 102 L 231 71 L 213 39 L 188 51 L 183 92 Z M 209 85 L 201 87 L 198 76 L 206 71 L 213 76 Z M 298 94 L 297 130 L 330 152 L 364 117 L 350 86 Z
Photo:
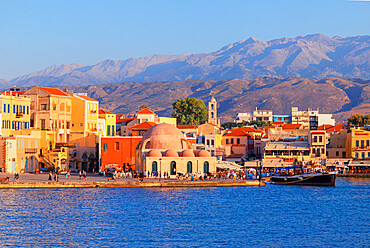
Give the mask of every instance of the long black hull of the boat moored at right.
M 270 182 L 284 185 L 335 186 L 335 174 L 272 176 Z

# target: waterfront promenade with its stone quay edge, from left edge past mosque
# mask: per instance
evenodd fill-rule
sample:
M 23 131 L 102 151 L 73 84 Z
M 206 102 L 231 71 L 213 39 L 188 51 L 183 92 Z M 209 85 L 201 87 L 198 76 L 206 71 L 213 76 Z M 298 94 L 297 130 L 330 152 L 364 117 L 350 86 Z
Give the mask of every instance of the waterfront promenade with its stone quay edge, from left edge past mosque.
M 88 174 L 86 179 L 80 179 L 77 173 L 67 179 L 64 174 L 59 175 L 58 181 L 49 181 L 48 174 L 20 174 L 19 181 L 14 180 L 13 174 L 0 174 L 0 178 L 9 177 L 10 181 L 1 181 L 0 189 L 9 188 L 150 188 L 150 187 L 236 187 L 236 186 L 265 186 L 258 180 L 176 180 L 176 179 L 144 179 L 118 178 L 116 181 L 107 180 L 107 177 L 98 174 Z

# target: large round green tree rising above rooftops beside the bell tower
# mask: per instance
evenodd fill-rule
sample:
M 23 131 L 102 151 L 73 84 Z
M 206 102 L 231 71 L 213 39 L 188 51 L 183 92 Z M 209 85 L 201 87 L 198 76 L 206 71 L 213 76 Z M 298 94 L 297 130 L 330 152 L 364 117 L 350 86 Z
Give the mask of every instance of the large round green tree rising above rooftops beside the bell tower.
M 173 117 L 180 125 L 199 125 L 207 121 L 207 107 L 202 100 L 194 97 L 177 99 L 172 103 Z

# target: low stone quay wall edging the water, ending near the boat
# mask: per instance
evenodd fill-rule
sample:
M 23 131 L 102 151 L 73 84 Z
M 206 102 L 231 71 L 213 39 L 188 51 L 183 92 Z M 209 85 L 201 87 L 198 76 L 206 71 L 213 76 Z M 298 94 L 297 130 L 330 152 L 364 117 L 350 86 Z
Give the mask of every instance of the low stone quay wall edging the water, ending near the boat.
M 0 189 L 29 188 L 160 188 L 160 187 L 246 187 L 265 186 L 264 181 L 135 181 L 135 182 L 7 182 Z

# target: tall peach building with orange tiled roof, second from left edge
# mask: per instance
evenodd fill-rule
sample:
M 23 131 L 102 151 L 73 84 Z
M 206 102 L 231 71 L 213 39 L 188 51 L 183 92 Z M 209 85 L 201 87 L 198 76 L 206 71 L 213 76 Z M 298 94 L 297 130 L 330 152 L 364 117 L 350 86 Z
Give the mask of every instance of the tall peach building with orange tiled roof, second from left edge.
M 68 143 L 72 97 L 57 88 L 34 86 L 23 93 L 31 98 L 31 128 L 51 130 L 56 143 Z

